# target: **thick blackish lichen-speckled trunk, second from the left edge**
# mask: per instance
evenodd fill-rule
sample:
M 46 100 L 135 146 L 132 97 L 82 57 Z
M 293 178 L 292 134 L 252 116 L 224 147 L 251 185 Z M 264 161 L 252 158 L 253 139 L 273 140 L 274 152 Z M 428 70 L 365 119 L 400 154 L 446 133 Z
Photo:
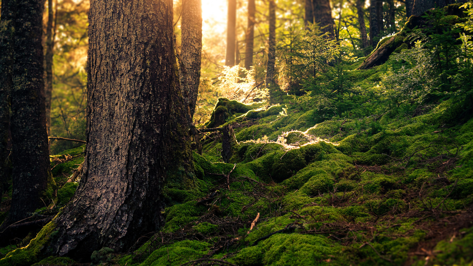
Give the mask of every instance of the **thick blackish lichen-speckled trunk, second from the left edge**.
M 51 175 L 44 103 L 43 9 L 44 1 L 16 2 L 10 120 L 13 194 L 9 222 L 29 217 L 44 206 L 40 196 Z

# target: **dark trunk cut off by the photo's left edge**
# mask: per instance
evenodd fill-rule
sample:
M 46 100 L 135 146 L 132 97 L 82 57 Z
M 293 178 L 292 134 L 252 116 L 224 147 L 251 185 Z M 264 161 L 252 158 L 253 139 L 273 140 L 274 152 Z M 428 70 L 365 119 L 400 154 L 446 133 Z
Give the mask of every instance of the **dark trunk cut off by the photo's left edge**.
M 0 194 L 8 188 L 11 177 L 10 96 L 13 87 L 13 20 L 15 1 L 1 1 L 0 15 Z M 1 196 L 0 196 L 1 197 Z M 1 199 L 0 199 L 1 202 Z

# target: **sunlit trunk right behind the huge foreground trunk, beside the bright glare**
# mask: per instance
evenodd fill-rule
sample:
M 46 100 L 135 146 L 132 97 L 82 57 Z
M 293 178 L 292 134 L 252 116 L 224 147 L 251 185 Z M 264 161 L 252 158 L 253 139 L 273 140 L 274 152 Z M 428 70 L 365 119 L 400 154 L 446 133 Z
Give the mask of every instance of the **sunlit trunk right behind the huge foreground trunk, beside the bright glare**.
M 202 3 L 201 0 L 185 0 L 181 23 L 181 60 L 184 65 L 181 84 L 189 99 L 191 118 L 194 116 L 202 58 Z

